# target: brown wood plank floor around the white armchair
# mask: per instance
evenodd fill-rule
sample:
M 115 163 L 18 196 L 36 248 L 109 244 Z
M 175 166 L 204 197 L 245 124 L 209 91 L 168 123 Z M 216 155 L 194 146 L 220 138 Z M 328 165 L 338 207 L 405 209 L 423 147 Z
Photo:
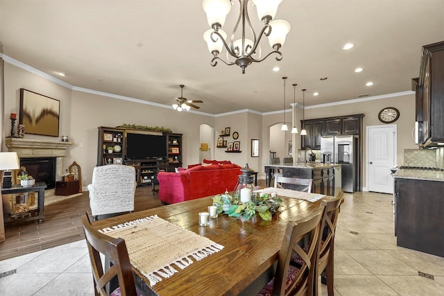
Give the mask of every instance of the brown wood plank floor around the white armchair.
M 139 186 L 135 195 L 135 211 L 162 207 L 151 186 Z M 69 200 L 49 204 L 44 208 L 44 223 L 36 221 L 6 225 L 6 241 L 0 243 L 0 261 L 36 252 L 85 238 L 80 214 L 89 209 L 88 192 Z

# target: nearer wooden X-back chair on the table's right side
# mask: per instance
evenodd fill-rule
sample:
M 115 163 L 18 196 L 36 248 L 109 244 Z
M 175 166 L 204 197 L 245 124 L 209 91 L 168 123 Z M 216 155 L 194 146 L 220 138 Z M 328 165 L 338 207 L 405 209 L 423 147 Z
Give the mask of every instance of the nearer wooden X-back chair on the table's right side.
M 308 218 L 289 221 L 285 229 L 282 247 L 278 254 L 278 266 L 275 277 L 257 295 L 314 295 L 314 277 L 316 275 L 316 250 L 318 250 L 321 222 L 325 205 Z M 310 247 L 302 250 L 300 244 L 306 241 Z M 302 264 L 290 265 L 292 256 L 300 256 Z

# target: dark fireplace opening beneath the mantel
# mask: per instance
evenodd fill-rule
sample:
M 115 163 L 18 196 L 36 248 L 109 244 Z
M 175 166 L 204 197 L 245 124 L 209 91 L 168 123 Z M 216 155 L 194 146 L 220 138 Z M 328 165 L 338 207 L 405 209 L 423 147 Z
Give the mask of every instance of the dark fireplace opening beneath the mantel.
M 56 188 L 56 157 L 23 157 L 20 166 L 26 168 L 35 182 L 45 182 L 46 189 Z

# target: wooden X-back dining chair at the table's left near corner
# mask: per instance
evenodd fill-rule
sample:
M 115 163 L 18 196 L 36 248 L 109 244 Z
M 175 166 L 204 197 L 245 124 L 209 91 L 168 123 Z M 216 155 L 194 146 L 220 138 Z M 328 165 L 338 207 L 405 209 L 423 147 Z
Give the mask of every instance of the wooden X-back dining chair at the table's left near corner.
M 108 295 L 105 287 L 114 277 L 117 277 L 119 281 L 119 288 L 112 291 L 109 295 L 141 295 L 136 290 L 125 241 L 122 238 L 112 238 L 98 232 L 92 227 L 87 213 L 82 214 L 80 220 L 82 221 L 83 232 L 85 232 L 89 259 L 92 265 L 95 295 Z M 105 255 L 105 258 L 112 263 L 112 266 L 106 271 L 103 270 L 100 254 Z

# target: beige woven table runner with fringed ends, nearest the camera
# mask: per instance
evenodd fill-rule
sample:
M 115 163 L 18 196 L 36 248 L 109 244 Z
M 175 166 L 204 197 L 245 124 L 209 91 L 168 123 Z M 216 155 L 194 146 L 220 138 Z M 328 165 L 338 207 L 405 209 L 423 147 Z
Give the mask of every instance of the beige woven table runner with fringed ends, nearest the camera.
M 171 277 L 178 269 L 223 249 L 223 245 L 157 215 L 99 231 L 125 240 L 131 264 L 150 281 L 151 286 L 162 278 Z

